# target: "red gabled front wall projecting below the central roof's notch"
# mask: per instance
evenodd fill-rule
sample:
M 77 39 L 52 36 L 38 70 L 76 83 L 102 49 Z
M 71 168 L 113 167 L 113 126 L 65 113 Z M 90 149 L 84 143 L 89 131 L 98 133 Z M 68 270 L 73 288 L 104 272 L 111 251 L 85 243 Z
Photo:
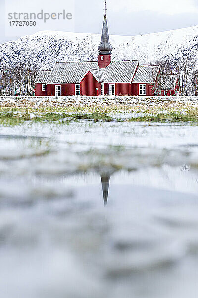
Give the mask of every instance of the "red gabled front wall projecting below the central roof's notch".
M 98 95 L 100 95 L 100 84 L 90 72 L 83 78 L 80 86 L 81 95 L 96 96 L 96 88 L 98 88 Z

